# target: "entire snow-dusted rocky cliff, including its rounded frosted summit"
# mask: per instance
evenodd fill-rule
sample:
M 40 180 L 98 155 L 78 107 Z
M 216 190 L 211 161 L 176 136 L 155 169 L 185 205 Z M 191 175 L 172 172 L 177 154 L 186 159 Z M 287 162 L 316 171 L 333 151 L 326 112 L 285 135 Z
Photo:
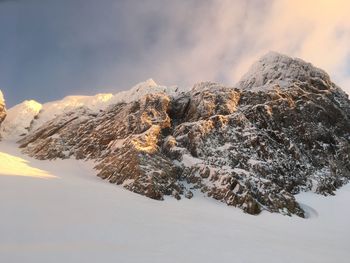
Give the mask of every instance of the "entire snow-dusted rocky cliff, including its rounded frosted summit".
M 81 107 L 19 143 L 39 159 L 94 159 L 99 177 L 150 198 L 200 192 L 250 214 L 303 217 L 294 194 L 333 194 L 350 178 L 349 119 L 325 72 L 269 53 L 237 87 L 204 82 Z

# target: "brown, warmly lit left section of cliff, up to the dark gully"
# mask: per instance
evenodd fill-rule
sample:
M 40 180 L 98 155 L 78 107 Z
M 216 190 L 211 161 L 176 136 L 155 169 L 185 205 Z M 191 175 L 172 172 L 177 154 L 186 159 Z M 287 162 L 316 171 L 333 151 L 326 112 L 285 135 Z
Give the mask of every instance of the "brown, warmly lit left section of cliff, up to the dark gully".
M 39 159 L 97 159 L 101 178 L 162 199 L 181 192 L 178 167 L 159 151 L 162 132 L 171 126 L 169 103 L 164 94 L 150 94 L 98 114 L 80 108 L 26 136 L 21 147 Z

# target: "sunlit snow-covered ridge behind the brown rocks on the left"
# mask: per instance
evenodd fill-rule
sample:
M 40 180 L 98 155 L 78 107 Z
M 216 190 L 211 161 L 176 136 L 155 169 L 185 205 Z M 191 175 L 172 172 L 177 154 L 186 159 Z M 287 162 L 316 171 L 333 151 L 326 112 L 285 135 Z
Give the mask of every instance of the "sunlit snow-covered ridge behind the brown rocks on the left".
M 140 99 L 149 93 L 174 93 L 178 87 L 158 85 L 153 79 L 140 82 L 129 90 L 115 94 L 99 93 L 93 96 L 70 95 L 61 100 L 39 103 L 35 100 L 25 100 L 7 111 L 7 119 L 0 133 L 4 139 L 18 140 L 21 136 L 33 131 L 60 114 L 69 113 L 79 108 L 85 108 L 91 113 L 105 110 L 111 105 Z M 20 116 L 20 117 L 18 117 Z

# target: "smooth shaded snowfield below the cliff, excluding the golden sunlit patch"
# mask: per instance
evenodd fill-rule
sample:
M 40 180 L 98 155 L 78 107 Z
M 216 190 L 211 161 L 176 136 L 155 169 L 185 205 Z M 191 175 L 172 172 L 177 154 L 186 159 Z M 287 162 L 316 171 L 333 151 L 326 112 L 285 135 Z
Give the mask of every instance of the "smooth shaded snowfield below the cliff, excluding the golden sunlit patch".
M 309 219 L 251 216 L 200 194 L 151 200 L 92 163 L 33 160 L 5 142 L 0 152 L 60 177 L 0 176 L 0 262 L 349 262 L 350 185 L 298 195 Z

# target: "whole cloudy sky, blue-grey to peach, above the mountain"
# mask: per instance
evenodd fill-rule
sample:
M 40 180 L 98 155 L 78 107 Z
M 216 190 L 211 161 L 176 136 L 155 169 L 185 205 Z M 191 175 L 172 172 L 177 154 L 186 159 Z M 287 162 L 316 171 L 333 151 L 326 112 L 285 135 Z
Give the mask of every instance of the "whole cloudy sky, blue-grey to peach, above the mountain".
M 11 107 L 149 78 L 234 85 L 277 51 L 350 93 L 349 10 L 348 0 L 0 0 L 0 89 Z

